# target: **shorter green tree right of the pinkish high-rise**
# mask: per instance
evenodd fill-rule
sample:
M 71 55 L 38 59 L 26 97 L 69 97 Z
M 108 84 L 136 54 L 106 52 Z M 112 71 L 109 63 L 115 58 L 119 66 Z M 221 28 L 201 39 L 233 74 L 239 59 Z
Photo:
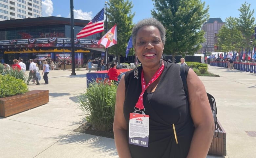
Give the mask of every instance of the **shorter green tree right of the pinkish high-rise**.
M 218 46 L 221 51 L 239 51 L 243 41 L 242 32 L 238 28 L 237 20 L 234 17 L 226 18 L 225 25 L 218 33 Z

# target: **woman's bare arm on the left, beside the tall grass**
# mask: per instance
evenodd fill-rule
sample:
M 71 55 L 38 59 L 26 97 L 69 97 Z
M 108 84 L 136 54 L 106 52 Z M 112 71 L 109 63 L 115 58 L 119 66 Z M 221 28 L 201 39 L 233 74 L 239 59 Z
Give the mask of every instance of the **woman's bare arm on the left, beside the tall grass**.
M 125 84 L 124 76 L 122 76 L 116 95 L 116 107 L 115 107 L 115 118 L 114 118 L 114 135 L 117 153 L 120 158 L 131 158 L 131 153 L 128 147 L 127 140 L 127 125 L 123 115 L 123 104 L 125 98 Z

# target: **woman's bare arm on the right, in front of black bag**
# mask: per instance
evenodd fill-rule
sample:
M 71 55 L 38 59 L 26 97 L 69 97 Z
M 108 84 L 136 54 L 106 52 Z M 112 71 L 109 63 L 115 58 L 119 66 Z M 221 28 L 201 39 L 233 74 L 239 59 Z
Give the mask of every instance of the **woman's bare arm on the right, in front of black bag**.
M 193 69 L 187 75 L 190 113 L 195 125 L 187 158 L 205 158 L 209 151 L 215 125 L 205 87 Z

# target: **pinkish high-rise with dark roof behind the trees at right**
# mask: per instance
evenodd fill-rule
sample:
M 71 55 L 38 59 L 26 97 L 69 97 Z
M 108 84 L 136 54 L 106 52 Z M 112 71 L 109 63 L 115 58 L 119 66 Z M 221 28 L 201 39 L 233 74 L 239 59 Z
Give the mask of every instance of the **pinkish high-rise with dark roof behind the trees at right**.
M 210 18 L 207 22 L 203 23 L 201 30 L 204 30 L 204 38 L 205 42 L 202 43 L 202 49 L 198 51 L 198 53 L 209 55 L 209 52 L 215 52 L 217 47 L 217 34 L 219 30 L 225 23 L 221 20 L 221 18 Z M 214 47 L 215 46 L 215 47 Z

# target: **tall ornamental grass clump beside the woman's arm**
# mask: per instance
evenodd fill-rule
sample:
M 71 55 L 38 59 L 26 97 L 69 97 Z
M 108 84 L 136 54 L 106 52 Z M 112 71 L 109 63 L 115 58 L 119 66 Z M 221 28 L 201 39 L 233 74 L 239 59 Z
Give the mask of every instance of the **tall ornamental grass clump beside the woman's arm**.
M 113 129 L 117 85 L 90 83 L 87 91 L 78 96 L 79 108 L 95 130 Z

